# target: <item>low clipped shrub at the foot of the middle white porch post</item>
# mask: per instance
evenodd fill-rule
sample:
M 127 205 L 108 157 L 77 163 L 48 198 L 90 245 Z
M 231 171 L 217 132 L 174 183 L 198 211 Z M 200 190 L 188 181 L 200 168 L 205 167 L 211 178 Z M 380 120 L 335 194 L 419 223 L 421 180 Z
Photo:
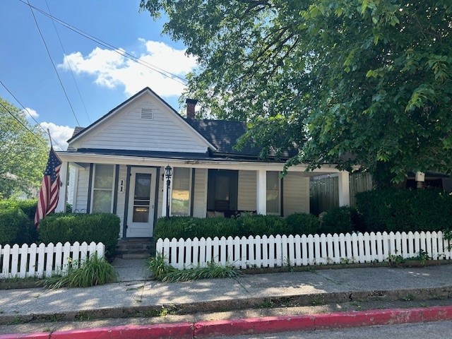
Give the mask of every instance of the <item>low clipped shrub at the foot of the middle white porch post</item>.
M 290 234 L 291 229 L 285 219 L 277 215 L 249 215 L 237 218 L 240 237 L 250 235 L 276 235 Z

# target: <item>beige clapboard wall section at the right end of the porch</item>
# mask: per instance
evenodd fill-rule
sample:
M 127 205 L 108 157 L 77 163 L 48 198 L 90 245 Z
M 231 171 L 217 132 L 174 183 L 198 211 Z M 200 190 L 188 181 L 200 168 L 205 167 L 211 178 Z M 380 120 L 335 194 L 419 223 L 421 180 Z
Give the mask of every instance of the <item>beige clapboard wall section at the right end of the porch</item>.
M 292 213 L 309 213 L 309 177 L 289 172 L 283 180 L 284 216 Z

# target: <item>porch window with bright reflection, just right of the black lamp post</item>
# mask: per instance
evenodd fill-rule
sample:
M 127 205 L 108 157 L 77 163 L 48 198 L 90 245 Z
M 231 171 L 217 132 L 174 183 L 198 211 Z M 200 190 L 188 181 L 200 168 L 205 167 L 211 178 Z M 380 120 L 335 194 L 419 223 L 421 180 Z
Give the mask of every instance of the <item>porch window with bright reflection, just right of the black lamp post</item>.
M 190 169 L 174 167 L 171 214 L 190 215 Z

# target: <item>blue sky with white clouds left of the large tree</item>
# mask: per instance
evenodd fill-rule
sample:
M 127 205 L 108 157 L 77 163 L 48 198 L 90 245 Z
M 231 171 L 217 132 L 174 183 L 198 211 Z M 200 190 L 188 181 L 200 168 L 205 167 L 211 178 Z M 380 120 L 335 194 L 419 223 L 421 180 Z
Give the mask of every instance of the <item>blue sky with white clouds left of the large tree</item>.
M 27 1 L 117 48 L 114 52 L 33 10 L 69 100 Z M 0 97 L 27 108 L 63 149 L 75 126 L 88 126 L 145 86 L 179 109 L 177 100 L 184 89 L 181 81 L 143 64 L 184 78 L 196 62 L 185 56 L 182 42 L 161 35 L 164 18 L 154 21 L 148 12 L 138 12 L 139 2 L 1 0 L 0 81 L 7 89 L 0 84 Z M 126 59 L 124 53 L 140 59 L 141 64 Z

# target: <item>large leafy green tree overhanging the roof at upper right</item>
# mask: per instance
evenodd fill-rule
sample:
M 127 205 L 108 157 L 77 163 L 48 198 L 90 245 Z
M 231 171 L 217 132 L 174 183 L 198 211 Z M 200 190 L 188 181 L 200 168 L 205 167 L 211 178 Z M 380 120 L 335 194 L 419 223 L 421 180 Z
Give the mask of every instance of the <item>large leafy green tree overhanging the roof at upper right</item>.
M 400 182 L 452 168 L 450 0 L 141 0 L 199 67 L 186 95 L 287 162 Z M 283 137 L 281 137 L 283 136 Z

